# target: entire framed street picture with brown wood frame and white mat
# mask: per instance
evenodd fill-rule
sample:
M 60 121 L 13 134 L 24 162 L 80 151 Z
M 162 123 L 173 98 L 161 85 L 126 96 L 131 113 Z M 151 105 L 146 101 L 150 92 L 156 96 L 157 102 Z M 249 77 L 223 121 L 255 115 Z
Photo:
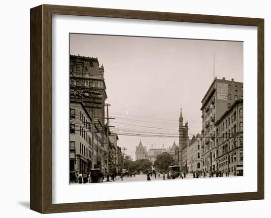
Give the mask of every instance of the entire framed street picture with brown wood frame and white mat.
M 31 209 L 264 199 L 264 20 L 31 9 Z

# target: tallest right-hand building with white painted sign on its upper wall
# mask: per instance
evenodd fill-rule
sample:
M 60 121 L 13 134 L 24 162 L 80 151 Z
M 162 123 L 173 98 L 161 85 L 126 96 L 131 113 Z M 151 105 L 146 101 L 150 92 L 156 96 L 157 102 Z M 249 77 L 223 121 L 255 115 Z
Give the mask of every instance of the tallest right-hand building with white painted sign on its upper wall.
M 217 79 L 210 85 L 202 100 L 203 171 L 217 171 L 216 127 L 218 120 L 235 101 L 243 98 L 243 83 L 234 79 Z

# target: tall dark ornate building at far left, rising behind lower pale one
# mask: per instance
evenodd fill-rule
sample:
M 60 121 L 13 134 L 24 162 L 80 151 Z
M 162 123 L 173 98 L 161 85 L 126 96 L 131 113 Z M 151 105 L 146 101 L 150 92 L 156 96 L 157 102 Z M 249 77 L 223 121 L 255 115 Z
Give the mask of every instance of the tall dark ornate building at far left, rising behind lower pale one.
M 104 102 L 107 98 L 106 86 L 104 82 L 104 68 L 99 67 L 99 62 L 97 58 L 92 57 L 82 57 L 76 55 L 70 55 L 70 101 L 79 101 L 85 107 L 86 111 L 90 114 L 91 118 L 95 120 L 92 123 L 92 151 L 93 157 L 91 159 L 101 159 L 105 158 L 106 155 L 99 155 L 99 150 L 104 149 L 103 153 L 107 153 L 107 145 L 105 143 L 104 134 L 96 136 L 96 130 L 94 128 L 95 123 L 101 123 L 102 132 L 104 133 Z M 97 121 L 98 120 L 98 121 Z M 100 128 L 100 127 L 99 127 Z M 99 134 L 98 134 L 99 135 Z M 99 139 L 101 142 L 96 140 Z M 95 141 L 96 140 L 96 141 Z M 98 145 L 99 144 L 99 145 Z M 101 148 L 99 148 L 101 146 Z M 95 150 L 97 149 L 97 150 Z M 98 151 L 98 154 L 97 154 Z M 107 158 L 107 157 L 106 157 Z M 102 163 L 105 163 L 103 168 L 106 171 L 107 160 L 96 161 L 98 167 L 102 167 Z M 94 162 L 92 162 L 91 168 L 94 167 Z

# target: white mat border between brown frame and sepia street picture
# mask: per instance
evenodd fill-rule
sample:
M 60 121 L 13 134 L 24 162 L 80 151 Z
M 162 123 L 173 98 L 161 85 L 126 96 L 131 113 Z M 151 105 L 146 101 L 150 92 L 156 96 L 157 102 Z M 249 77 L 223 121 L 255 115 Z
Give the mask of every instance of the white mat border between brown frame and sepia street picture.
M 244 176 L 69 185 L 69 33 L 244 41 Z M 249 174 L 248 170 L 253 174 Z M 52 16 L 53 204 L 250 192 L 257 191 L 256 175 L 257 27 L 68 15 Z

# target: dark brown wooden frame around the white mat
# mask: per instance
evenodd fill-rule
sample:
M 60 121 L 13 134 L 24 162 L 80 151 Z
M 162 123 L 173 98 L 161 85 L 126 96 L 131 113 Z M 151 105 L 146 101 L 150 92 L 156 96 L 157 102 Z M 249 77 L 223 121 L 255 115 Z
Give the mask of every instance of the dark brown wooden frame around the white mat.
M 40 5 L 31 13 L 31 193 L 30 208 L 60 213 L 264 199 L 264 19 L 153 11 Z M 258 28 L 258 190 L 256 192 L 179 196 L 133 200 L 52 204 L 52 14 L 208 24 Z

